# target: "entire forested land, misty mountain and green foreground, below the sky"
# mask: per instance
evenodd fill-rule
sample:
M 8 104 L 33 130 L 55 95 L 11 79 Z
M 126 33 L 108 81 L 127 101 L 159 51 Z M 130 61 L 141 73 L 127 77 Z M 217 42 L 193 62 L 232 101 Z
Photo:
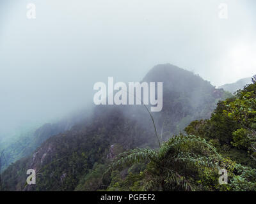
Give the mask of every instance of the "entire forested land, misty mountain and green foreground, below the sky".
M 11 164 L 1 174 L 1 190 L 256 189 L 255 78 L 233 97 L 170 64 L 154 67 L 143 81 L 163 82 L 163 110 L 152 114 L 157 134 L 143 106 L 97 106 L 86 122 Z M 30 168 L 36 185 L 26 185 Z M 228 184 L 219 183 L 221 169 Z

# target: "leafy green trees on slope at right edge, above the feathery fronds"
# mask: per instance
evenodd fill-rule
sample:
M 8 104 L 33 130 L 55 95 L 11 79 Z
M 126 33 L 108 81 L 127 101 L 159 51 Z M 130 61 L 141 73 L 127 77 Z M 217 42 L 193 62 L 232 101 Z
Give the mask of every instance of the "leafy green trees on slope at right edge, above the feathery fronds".
M 195 120 L 185 129 L 188 134 L 211 140 L 223 155 L 237 163 L 256 168 L 256 76 L 236 95 L 220 101 L 211 119 Z

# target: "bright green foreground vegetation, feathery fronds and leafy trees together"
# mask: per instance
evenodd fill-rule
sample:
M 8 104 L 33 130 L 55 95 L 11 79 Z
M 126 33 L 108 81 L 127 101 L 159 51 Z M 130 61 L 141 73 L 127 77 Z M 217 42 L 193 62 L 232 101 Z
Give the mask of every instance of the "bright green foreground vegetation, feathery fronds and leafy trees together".
M 255 191 L 256 76 L 252 82 L 220 101 L 211 119 L 191 122 L 186 135 L 175 135 L 157 149 L 118 154 L 105 174 L 111 180 L 107 189 Z M 122 177 L 125 167 L 127 176 Z M 223 169 L 227 184 L 219 182 Z

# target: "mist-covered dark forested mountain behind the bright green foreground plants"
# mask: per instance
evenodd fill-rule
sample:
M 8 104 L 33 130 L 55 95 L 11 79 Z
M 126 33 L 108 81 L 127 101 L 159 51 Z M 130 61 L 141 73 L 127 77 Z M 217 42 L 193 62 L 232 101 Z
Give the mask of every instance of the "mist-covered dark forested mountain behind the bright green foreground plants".
M 163 82 L 163 110 L 152 112 L 161 142 L 182 132 L 193 120 L 208 119 L 216 103 L 230 96 L 198 75 L 171 64 L 155 66 L 141 82 Z M 29 151 L 33 153 L 3 172 L 2 188 L 12 191 L 104 189 L 100 183 L 102 174 L 118 153 L 135 147 L 157 147 L 154 126 L 143 105 L 96 106 L 92 117 L 66 129 L 51 124 L 38 129 L 39 136 L 33 140 L 40 147 L 35 151 L 26 148 L 26 155 Z M 31 168 L 41 175 L 36 179 L 36 186 L 26 186 L 26 170 Z M 126 175 L 127 171 L 123 173 Z

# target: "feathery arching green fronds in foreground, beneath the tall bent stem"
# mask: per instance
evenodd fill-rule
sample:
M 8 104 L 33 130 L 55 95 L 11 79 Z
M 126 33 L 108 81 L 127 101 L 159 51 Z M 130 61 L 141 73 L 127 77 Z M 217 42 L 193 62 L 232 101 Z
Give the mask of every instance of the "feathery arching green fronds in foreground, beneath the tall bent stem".
M 157 150 L 132 149 L 119 154 L 108 171 L 113 171 L 120 166 L 131 166 L 134 163 L 147 163 L 147 168 L 140 173 L 145 175 L 141 180 L 140 189 L 142 190 L 211 190 L 202 186 L 201 180 L 203 176 L 212 176 L 207 182 L 212 186 L 218 184 L 220 159 L 215 148 L 205 139 L 179 135 L 164 142 Z M 116 183 L 111 184 L 110 188 L 112 186 L 116 186 Z

